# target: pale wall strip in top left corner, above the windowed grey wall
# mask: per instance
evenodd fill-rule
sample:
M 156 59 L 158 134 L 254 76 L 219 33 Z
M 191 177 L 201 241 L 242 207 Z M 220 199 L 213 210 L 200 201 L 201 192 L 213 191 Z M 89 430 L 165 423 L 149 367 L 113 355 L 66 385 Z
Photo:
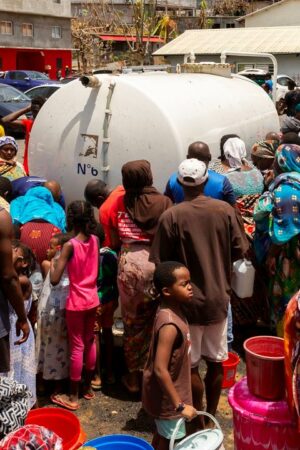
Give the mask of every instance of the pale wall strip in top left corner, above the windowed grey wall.
M 70 0 L 0 0 L 0 11 L 70 17 Z

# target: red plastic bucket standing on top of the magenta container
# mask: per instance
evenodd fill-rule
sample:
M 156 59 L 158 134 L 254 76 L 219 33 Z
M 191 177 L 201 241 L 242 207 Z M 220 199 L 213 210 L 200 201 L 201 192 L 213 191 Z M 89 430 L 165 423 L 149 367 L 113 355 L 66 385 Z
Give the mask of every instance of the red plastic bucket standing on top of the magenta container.
M 285 394 L 284 341 L 273 336 L 257 336 L 244 342 L 247 383 L 252 395 L 280 400 Z

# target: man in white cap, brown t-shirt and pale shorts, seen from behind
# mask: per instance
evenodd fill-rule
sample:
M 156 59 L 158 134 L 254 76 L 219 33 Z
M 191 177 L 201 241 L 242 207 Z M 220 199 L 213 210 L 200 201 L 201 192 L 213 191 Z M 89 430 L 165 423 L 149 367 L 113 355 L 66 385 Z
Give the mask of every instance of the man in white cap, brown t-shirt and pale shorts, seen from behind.
M 208 178 L 202 161 L 187 159 L 178 169 L 185 201 L 165 211 L 154 237 L 150 260 L 180 261 L 190 271 L 194 297 L 183 306 L 192 342 L 193 403 L 202 410 L 204 392 L 198 367 L 207 362 L 205 389 L 207 412 L 215 415 L 222 386 L 222 361 L 227 359 L 227 310 L 232 263 L 243 257 L 241 228 L 226 202 L 206 197 Z

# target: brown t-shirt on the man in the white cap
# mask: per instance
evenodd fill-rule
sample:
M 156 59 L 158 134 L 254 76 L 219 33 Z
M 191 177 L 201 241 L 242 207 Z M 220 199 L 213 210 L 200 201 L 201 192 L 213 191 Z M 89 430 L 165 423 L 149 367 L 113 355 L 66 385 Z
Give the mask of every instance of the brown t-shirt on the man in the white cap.
M 188 267 L 194 297 L 184 314 L 191 324 L 209 325 L 227 316 L 232 262 L 244 252 L 234 208 L 200 195 L 162 214 L 150 260 L 179 261 Z

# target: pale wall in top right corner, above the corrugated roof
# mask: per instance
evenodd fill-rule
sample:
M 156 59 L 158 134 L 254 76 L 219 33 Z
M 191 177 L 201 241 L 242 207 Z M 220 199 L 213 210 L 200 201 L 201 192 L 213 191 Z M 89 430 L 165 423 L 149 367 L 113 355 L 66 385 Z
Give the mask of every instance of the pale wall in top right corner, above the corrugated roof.
M 246 27 L 276 27 L 300 25 L 299 0 L 289 0 L 274 8 L 245 18 Z

